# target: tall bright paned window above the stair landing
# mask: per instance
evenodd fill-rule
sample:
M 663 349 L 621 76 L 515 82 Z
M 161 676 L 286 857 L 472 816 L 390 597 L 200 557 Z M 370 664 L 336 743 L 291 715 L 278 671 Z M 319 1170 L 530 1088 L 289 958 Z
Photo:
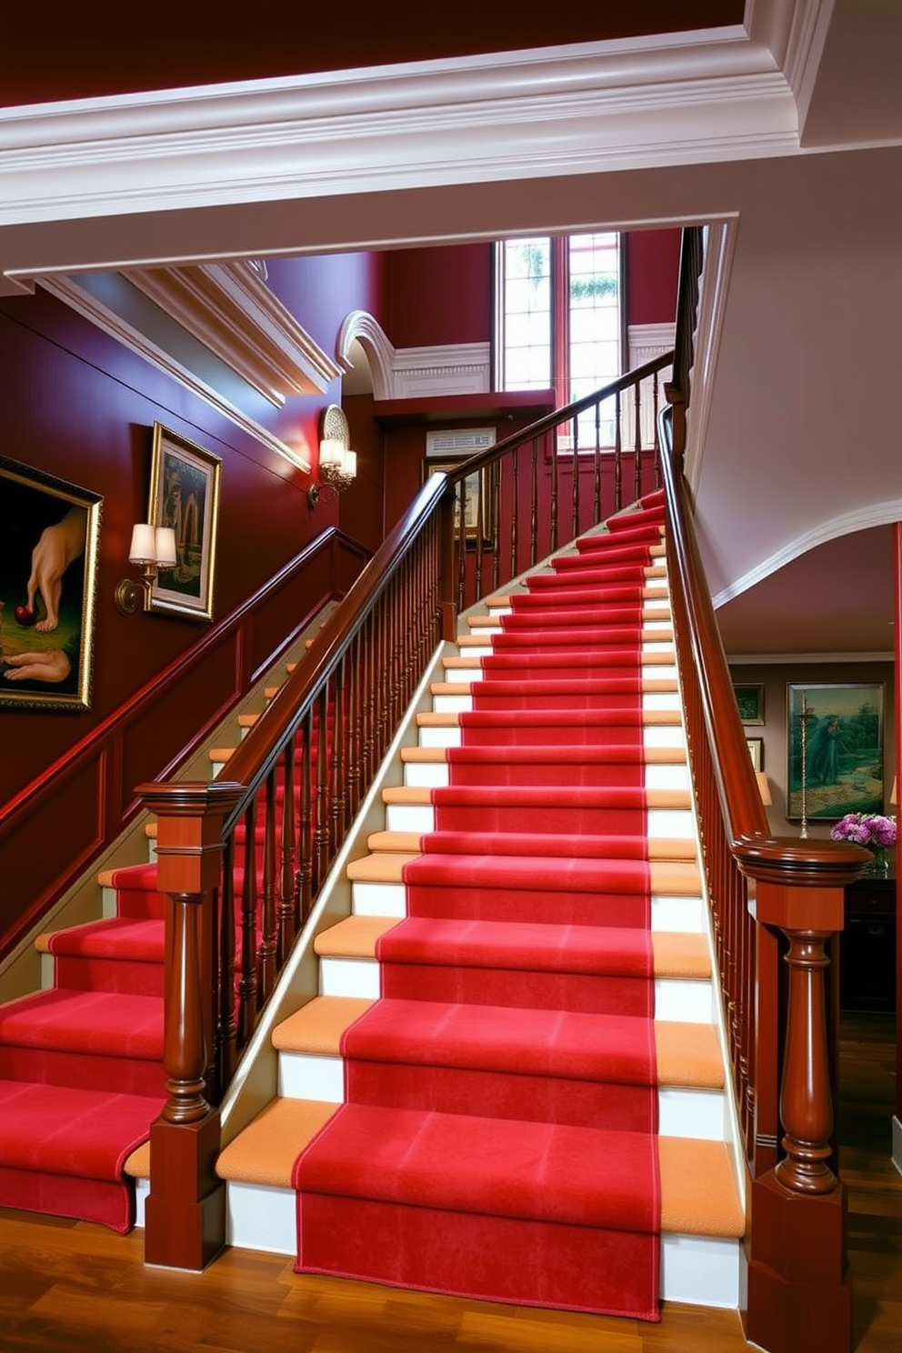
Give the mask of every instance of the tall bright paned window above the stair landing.
M 537 235 L 496 246 L 499 390 L 554 390 L 565 405 L 622 373 L 622 250 L 617 231 Z M 595 415 L 580 445 L 595 445 Z M 583 432 L 586 433 L 583 436 Z M 600 440 L 614 442 L 614 400 Z

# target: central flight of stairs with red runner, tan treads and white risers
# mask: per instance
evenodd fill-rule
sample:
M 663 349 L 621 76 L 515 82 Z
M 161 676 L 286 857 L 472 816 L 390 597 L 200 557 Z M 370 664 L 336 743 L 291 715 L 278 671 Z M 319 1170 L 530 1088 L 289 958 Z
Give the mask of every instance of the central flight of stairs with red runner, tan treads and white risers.
M 272 1030 L 279 1096 L 219 1157 L 230 1243 L 298 1254 L 300 1270 L 626 1314 L 587 1280 L 606 1266 L 603 1226 L 571 1226 L 576 1247 L 565 1249 L 568 1218 L 561 1229 L 554 1216 L 559 1230 L 530 1268 L 536 1242 L 525 1234 L 549 1223 L 542 1189 L 526 1181 L 515 1222 L 492 1199 L 523 1191 L 523 1162 L 549 1132 L 553 1151 L 576 1153 L 580 1173 L 607 1178 L 599 1193 L 610 1195 L 603 1172 L 638 1111 L 611 1109 L 607 1081 L 642 1073 L 611 1073 L 604 1061 L 646 1003 L 655 1298 L 738 1304 L 744 1210 L 660 520 L 656 501 L 611 520 L 517 595 L 490 599 L 445 658 L 431 709 L 417 716 L 418 746 L 400 752 L 403 783 L 383 790 L 384 829 L 346 867 L 352 915 L 315 940 L 319 994 Z M 423 1132 L 446 1151 L 427 1196 L 412 1151 Z M 361 1139 L 379 1170 L 361 1168 Z M 338 1157 L 357 1143 L 353 1183 L 322 1183 L 316 1153 L 330 1141 Z M 477 1154 L 492 1161 L 479 1187 L 465 1168 Z M 348 1166 L 331 1158 L 335 1168 Z M 304 1200 L 307 1169 L 316 1183 Z M 546 1192 L 565 1193 L 565 1176 Z M 592 1206 L 603 1214 L 604 1199 Z M 468 1233 L 468 1210 L 481 1230 Z M 341 1253 L 321 1234 L 341 1234 Z M 477 1252 L 461 1260 L 468 1234 L 480 1237 Z M 636 1239 L 615 1235 L 611 1253 Z M 487 1264 L 499 1247 L 517 1261 Z M 567 1256 L 557 1268 L 556 1249 Z

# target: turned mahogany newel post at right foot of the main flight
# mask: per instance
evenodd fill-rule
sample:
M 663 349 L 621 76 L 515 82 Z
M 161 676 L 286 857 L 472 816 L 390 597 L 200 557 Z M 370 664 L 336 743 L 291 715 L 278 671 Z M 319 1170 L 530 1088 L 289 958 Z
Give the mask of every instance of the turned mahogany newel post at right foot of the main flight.
M 809 859 L 798 882 L 776 882 L 776 870 L 764 869 L 769 877 L 763 877 L 745 869 L 757 879 L 756 920 L 788 940 L 779 1100 L 786 1154 L 752 1181 L 751 1197 L 745 1334 L 768 1353 L 848 1353 L 852 1344 L 847 1193 L 828 1164 L 833 1095 L 825 943 L 842 930 L 842 885 L 861 866 L 855 856 L 842 862 L 845 869 L 832 863 Z M 786 869 L 783 878 L 791 873 Z

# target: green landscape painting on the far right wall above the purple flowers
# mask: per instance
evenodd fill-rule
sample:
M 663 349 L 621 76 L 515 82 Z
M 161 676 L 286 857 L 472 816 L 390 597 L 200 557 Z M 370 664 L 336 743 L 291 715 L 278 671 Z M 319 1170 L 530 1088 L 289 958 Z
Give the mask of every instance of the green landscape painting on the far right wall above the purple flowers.
M 786 727 L 788 819 L 883 812 L 883 682 L 791 682 Z

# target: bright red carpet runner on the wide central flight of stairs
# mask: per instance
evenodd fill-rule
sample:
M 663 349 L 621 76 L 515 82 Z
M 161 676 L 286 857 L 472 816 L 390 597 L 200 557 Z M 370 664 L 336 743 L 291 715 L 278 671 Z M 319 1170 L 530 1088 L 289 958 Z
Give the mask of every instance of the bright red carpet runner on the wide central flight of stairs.
M 657 1318 L 638 648 L 660 521 L 561 557 L 473 658 L 345 1103 L 295 1162 L 300 1272 Z

